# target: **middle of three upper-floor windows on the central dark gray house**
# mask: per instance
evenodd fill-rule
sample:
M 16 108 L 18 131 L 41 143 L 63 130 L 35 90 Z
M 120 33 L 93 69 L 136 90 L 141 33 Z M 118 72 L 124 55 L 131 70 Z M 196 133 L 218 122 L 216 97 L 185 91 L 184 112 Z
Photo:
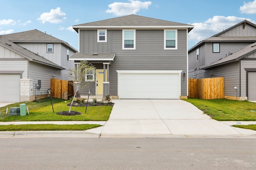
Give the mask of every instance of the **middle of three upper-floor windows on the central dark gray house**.
M 135 30 L 123 30 L 123 48 L 135 50 Z

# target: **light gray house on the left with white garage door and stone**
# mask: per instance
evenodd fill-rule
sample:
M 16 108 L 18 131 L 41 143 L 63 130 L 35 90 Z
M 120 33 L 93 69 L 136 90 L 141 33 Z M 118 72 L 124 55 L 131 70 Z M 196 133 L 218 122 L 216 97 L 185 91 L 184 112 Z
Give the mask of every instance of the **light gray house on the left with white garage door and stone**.
M 68 43 L 36 29 L 1 35 L 0 102 L 47 97 L 51 78 L 70 80 L 68 70 L 74 68 L 74 61 L 69 56 L 76 52 Z

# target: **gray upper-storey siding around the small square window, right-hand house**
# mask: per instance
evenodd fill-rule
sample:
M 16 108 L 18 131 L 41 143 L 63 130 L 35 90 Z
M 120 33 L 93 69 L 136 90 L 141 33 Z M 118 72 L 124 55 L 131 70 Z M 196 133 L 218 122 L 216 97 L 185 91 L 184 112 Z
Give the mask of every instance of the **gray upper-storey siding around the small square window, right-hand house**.
M 219 59 L 222 59 L 223 57 L 228 56 L 228 54 L 234 53 L 243 47 L 246 47 L 247 45 L 251 43 L 222 43 L 220 42 L 220 53 L 213 53 L 212 52 L 212 44 L 213 43 L 206 43 L 206 65 L 211 64 L 215 61 L 218 61 Z

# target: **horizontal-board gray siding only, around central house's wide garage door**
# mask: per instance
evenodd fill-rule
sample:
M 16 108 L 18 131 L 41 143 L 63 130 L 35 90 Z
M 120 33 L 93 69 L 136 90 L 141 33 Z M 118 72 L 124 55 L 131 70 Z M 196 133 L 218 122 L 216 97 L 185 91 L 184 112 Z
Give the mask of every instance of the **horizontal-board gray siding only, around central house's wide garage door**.
M 136 50 L 122 50 L 122 30 L 112 30 L 112 52 L 116 57 L 110 67 L 110 95 L 116 96 L 116 70 L 186 72 L 186 30 L 178 30 L 178 50 L 164 50 L 164 30 L 136 30 Z M 187 96 L 186 78 L 184 82 L 183 77 L 181 79 L 181 95 Z

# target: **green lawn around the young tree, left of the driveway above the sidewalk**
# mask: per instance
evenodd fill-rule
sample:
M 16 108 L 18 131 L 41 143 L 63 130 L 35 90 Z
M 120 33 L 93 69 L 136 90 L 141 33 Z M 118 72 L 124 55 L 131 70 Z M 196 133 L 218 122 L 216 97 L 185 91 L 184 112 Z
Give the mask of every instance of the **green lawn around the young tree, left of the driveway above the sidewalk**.
M 72 106 L 72 111 L 79 111 L 82 115 L 64 116 L 56 114 L 59 111 L 68 111 L 69 106 L 67 104 L 69 102 L 70 100 L 65 102 L 65 100 L 53 98 L 54 113 L 49 98 L 42 99 L 39 102 L 26 102 L 29 109 L 29 114 L 26 116 L 8 116 L 10 107 L 20 107 L 20 104 L 24 102 L 11 104 L 0 108 L 2 113 L 0 121 L 107 121 L 112 110 L 112 106 L 88 106 L 85 113 L 86 107 Z M 9 109 L 7 115 L 6 107 Z

